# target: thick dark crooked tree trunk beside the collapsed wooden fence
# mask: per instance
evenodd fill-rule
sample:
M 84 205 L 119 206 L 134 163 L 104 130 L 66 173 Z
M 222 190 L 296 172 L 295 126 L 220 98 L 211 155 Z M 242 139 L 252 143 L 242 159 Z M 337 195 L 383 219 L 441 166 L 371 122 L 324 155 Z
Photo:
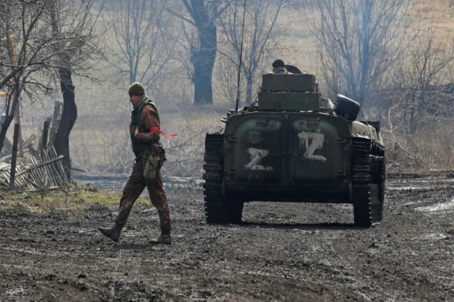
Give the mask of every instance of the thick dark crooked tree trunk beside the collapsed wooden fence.
M 70 58 L 64 57 L 63 66 L 69 66 Z M 71 180 L 71 158 L 69 150 L 69 135 L 77 119 L 77 106 L 74 93 L 71 69 L 67 67 L 59 68 L 60 86 L 63 94 L 63 113 L 59 129 L 55 134 L 53 146 L 59 155 L 63 155 L 63 166 L 68 180 Z

